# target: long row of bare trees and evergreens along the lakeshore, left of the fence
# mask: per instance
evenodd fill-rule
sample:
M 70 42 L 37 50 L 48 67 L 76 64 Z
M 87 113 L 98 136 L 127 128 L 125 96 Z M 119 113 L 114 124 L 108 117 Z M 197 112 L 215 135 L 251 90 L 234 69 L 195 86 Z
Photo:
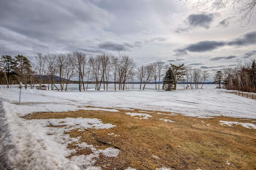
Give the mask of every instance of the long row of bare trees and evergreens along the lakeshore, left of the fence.
M 171 72 L 173 77 L 168 77 Z M 45 76 L 47 75 L 47 82 Z M 58 79 L 56 79 L 56 76 Z M 58 91 L 66 91 L 68 84 L 76 79 L 79 91 L 87 90 L 88 83 L 95 85 L 95 90 L 102 87 L 108 90 L 108 83 L 114 82 L 114 89 L 126 89 L 126 83 L 139 81 L 140 89 L 144 90 L 146 84 L 154 82 L 155 89 L 176 90 L 178 81 L 183 81 L 186 88 L 202 88 L 209 78 L 207 71 L 200 68 L 193 68 L 184 64 L 166 64 L 163 61 L 156 61 L 146 65 L 137 66 L 134 59 L 126 54 L 98 54 L 87 56 L 81 51 L 72 53 L 37 53 L 30 61 L 23 55 L 2 55 L 0 57 L 0 84 L 18 84 L 22 81 L 25 88 L 30 85 L 48 84 Z M 160 87 L 160 84 L 163 86 Z M 60 84 L 60 89 L 55 85 Z M 202 83 L 199 87 L 198 84 Z M 167 88 L 168 87 L 168 88 Z M 185 85 L 184 85 L 185 89 Z

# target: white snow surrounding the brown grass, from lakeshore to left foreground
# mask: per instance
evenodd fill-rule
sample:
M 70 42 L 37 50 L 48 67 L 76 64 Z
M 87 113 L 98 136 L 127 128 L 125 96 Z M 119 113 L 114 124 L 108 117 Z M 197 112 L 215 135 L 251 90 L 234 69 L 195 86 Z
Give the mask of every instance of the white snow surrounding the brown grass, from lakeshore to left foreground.
M 215 87 L 215 86 L 212 86 Z M 64 134 L 73 128 L 112 128 L 98 119 L 66 118 L 47 120 L 25 120 L 21 117 L 32 113 L 62 112 L 84 110 L 107 110 L 116 112 L 126 109 L 133 116 L 132 109 L 146 111 L 166 111 L 170 114 L 180 113 L 190 117 L 237 117 L 256 119 L 256 100 L 231 93 L 225 89 L 188 89 L 177 91 L 128 89 L 114 91 L 110 89 L 95 91 L 51 91 L 36 89 L 0 88 L 0 168 L 12 169 L 68 169 L 100 170 L 94 167 L 94 158 L 100 153 L 105 156 L 118 156 L 119 150 L 107 148 L 96 150 L 86 143 L 80 148 L 90 148 L 92 154 L 66 158 L 75 150 L 66 147 L 79 138 L 70 138 Z M 94 108 L 90 108 L 91 106 Z M 96 108 L 95 108 L 96 107 Z M 100 109 L 108 108 L 108 109 Z M 161 114 L 161 113 L 159 113 Z M 147 113 L 136 113 L 146 119 Z M 146 118 L 145 118 L 146 117 Z M 170 120 L 162 120 L 170 121 Z M 242 125 L 255 128 L 252 124 L 239 122 L 221 122 L 230 126 Z M 63 128 L 52 128 L 48 125 L 64 125 Z M 133 169 L 132 167 L 128 169 Z M 159 167 L 159 169 L 167 169 Z

